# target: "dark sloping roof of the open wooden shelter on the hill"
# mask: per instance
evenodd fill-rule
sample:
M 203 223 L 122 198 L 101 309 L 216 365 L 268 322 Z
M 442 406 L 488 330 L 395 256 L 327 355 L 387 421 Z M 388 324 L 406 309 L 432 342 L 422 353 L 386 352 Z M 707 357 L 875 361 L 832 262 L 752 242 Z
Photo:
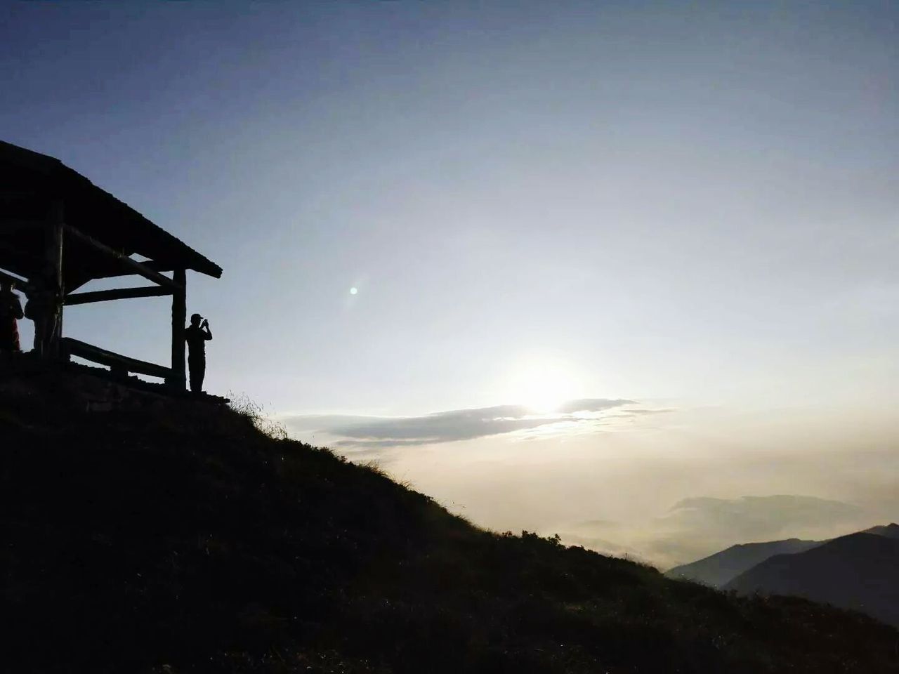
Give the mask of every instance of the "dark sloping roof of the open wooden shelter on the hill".
M 55 200 L 64 220 L 102 244 L 162 268 L 221 277 L 221 267 L 58 159 L 0 141 L 0 267 L 31 278 L 43 267 L 43 230 Z M 140 259 L 135 258 L 135 259 Z M 64 246 L 67 289 L 120 273 L 114 261 L 77 242 Z

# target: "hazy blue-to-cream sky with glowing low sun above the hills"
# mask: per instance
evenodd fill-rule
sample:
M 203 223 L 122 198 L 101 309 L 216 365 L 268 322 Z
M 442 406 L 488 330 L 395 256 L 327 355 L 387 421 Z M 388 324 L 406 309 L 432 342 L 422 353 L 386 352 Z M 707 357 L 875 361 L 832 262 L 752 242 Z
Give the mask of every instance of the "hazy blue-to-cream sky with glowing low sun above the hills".
M 899 519 L 897 19 L 7 3 L 0 129 L 223 267 L 188 279 L 207 390 L 666 566 Z M 65 331 L 165 363 L 168 315 Z

